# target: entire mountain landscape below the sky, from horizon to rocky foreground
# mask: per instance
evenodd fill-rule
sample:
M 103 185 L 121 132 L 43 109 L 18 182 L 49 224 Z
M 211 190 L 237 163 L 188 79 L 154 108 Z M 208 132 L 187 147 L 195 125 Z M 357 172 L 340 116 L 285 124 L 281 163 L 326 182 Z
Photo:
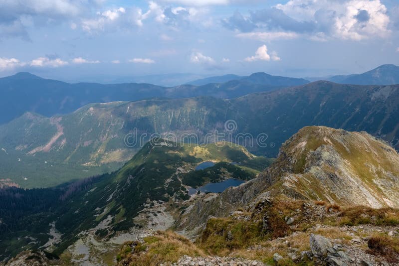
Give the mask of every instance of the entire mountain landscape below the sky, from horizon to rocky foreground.
M 0 79 L 0 265 L 398 265 L 399 85 L 219 80 Z

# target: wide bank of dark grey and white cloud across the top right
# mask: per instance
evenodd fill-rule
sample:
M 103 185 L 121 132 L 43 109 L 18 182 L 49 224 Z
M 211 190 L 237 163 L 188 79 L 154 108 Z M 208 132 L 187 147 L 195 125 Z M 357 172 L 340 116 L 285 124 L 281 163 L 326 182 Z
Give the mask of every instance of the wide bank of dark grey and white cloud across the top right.
M 223 19 L 222 25 L 241 33 L 255 33 L 241 36 L 262 41 L 287 38 L 293 33 L 313 40 L 363 40 L 391 33 L 388 10 L 381 0 L 289 0 L 250 11 L 246 17 L 236 11 Z

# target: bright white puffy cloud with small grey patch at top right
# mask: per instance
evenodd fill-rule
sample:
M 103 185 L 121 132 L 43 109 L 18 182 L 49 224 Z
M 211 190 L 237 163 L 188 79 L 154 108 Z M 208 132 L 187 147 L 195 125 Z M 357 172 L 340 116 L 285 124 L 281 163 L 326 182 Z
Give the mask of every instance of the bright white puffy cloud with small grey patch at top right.
M 289 0 L 276 7 L 298 21 L 314 21 L 319 30 L 340 39 L 386 37 L 391 32 L 381 0 Z

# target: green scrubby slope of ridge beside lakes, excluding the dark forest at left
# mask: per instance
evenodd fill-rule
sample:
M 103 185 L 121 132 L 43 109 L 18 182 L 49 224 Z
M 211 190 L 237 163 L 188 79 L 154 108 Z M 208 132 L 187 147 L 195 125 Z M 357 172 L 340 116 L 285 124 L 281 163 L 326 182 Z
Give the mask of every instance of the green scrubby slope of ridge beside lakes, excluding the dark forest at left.
M 252 162 L 255 158 L 256 162 Z M 25 248 L 38 248 L 43 245 L 48 239 L 45 234 L 49 230 L 48 224 L 52 221 L 56 221 L 56 229 L 63 234 L 62 243 L 54 250 L 58 255 L 78 239 L 79 233 L 93 230 L 107 219 L 109 223 L 106 223 L 106 229 L 98 228 L 93 231 L 99 239 L 111 238 L 116 231 L 140 227 L 135 225 L 132 219 L 152 202 L 168 202 L 172 198 L 183 201 L 189 198 L 188 191 L 179 180 L 182 176 L 177 175 L 177 168 L 194 170 L 198 163 L 204 160 L 258 164 L 260 158 L 254 157 L 242 146 L 218 147 L 208 144 L 199 147 L 155 140 L 147 143 L 120 170 L 98 177 L 81 191 L 72 192 L 72 196 L 64 201 L 56 200 L 56 206 L 51 213 L 37 213 L 24 217 L 24 221 L 37 223 L 38 227 L 34 232 L 28 230 L 4 234 L 0 245 L 2 254 L 10 254 L 12 251 L 11 255 L 15 255 L 24 245 Z M 45 195 L 45 192 L 40 193 Z M 67 192 L 64 191 L 63 194 Z M 26 230 L 29 227 L 22 227 L 20 224 L 19 228 Z M 40 234 L 38 243 L 27 245 L 29 240 L 24 237 L 37 238 L 37 234 Z

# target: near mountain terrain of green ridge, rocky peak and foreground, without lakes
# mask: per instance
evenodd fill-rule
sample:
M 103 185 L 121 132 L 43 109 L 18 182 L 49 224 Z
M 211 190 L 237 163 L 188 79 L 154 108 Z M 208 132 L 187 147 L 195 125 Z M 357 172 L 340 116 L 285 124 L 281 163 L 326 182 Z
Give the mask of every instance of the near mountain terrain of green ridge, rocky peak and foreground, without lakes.
M 196 165 L 209 160 L 224 162 L 215 165 L 221 179 L 249 181 L 221 194 L 190 195 L 187 182 L 197 180 Z M 367 254 L 375 248 L 367 251 L 363 242 L 370 240 L 360 238 L 372 233 L 360 228 L 386 234 L 399 225 L 398 163 L 398 152 L 386 142 L 326 127 L 301 129 L 274 162 L 242 146 L 153 139 L 114 173 L 55 188 L 1 190 L 1 259 L 39 249 L 46 253 L 22 252 L 9 265 L 156 265 L 205 253 L 256 265 L 313 265 L 309 258 L 316 256 L 324 263 L 374 262 Z M 251 165 L 270 166 L 256 176 L 259 168 Z M 190 241 L 171 230 L 195 244 L 183 248 Z M 336 239 L 334 249 L 325 237 Z M 397 262 L 396 253 L 378 254 L 380 262 Z M 190 265 L 193 258 L 184 258 Z

